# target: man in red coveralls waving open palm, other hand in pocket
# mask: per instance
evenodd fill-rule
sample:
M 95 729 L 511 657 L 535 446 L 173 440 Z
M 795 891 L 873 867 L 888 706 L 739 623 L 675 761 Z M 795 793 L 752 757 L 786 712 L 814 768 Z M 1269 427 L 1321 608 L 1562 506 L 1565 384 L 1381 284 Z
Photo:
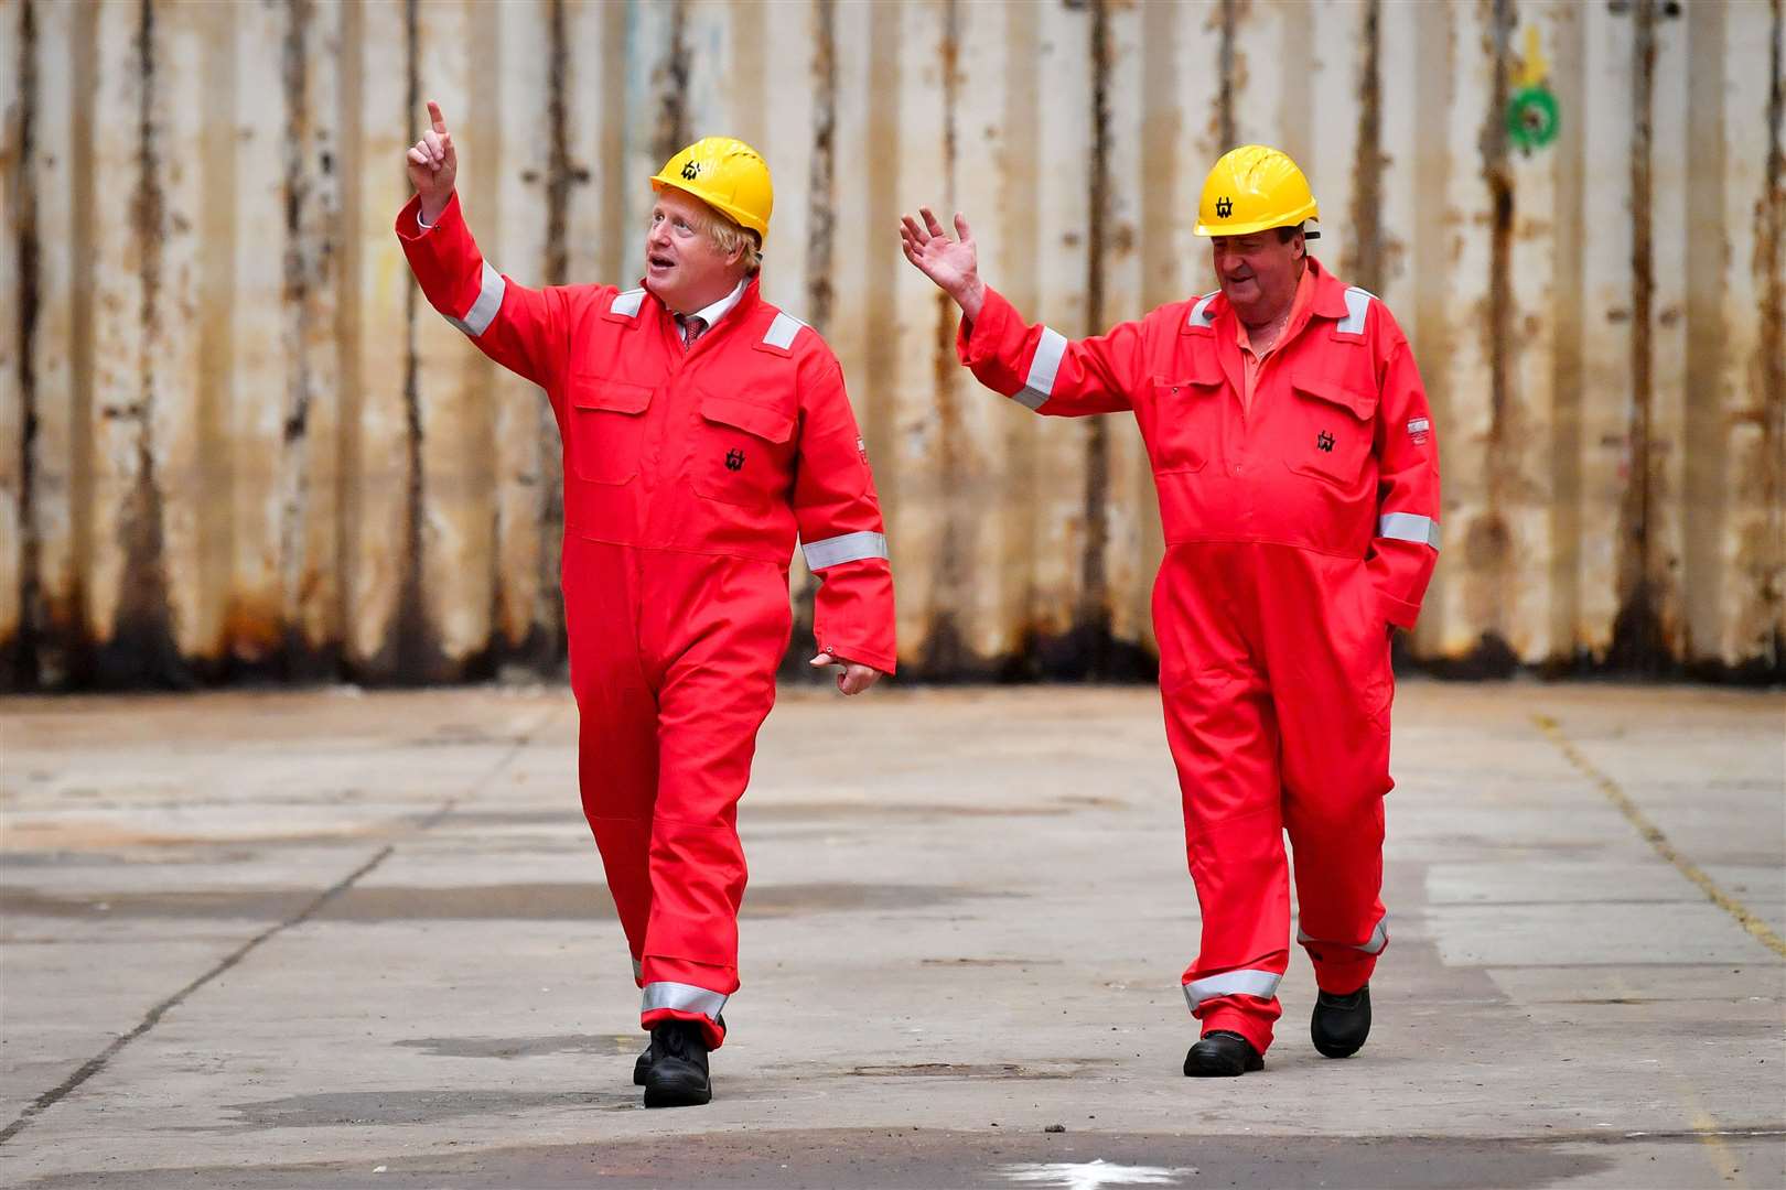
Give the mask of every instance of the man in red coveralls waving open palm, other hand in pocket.
M 1329 1058 L 1365 1044 L 1390 940 L 1390 635 L 1413 628 L 1438 558 L 1438 448 L 1390 310 L 1307 255 L 1316 218 L 1289 157 L 1227 153 L 1197 223 L 1222 287 L 1079 343 L 986 287 L 959 214 L 957 241 L 931 211 L 900 228 L 961 305 L 957 348 L 982 384 L 1039 414 L 1141 426 L 1166 535 L 1159 685 L 1204 915 L 1182 979 L 1202 1022 L 1191 1076 L 1264 1067 L 1289 962 L 1284 830 Z

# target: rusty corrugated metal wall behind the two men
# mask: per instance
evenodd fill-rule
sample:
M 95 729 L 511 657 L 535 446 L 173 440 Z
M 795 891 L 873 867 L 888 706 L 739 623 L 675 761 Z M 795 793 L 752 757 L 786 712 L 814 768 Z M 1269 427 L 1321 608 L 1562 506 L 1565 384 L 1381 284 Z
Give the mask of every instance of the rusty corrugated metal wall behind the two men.
M 1447 548 L 1413 655 L 1777 680 L 1781 27 L 1782 0 L 0 0 L 0 685 L 555 665 L 550 416 L 391 236 L 423 96 L 530 284 L 636 277 L 684 139 L 766 152 L 766 291 L 845 360 L 914 673 L 1145 673 L 1159 523 L 1132 423 L 954 364 L 897 216 L 964 209 L 986 275 L 1089 334 L 1211 285 L 1197 189 L 1257 139 L 1431 387 Z M 1554 139 L 1509 127 L 1532 89 Z

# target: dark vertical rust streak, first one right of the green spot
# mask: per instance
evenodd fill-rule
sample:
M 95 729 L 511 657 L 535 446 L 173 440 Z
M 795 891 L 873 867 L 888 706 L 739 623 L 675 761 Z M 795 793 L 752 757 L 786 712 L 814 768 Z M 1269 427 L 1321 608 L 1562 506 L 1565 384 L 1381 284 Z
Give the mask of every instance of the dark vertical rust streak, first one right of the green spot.
M 1656 103 L 1656 0 L 1632 0 L 1631 70 L 1631 423 L 1627 480 L 1618 510 L 1618 617 L 1607 660 L 1616 669 L 1656 673 L 1668 658 L 1656 574 L 1656 471 L 1652 448 L 1656 250 L 1652 168 Z

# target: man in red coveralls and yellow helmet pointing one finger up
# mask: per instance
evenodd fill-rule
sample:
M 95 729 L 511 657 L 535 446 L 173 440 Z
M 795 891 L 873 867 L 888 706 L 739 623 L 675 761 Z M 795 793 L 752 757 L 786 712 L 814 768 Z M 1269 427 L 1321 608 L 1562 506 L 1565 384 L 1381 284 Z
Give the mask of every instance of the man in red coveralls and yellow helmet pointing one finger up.
M 638 289 L 491 268 L 429 103 L 396 216 L 429 303 L 547 391 L 564 448 L 564 626 L 582 808 L 645 992 L 645 1106 L 707 1103 L 738 990 L 738 799 L 788 648 L 795 535 L 820 578 L 813 665 L 893 673 L 893 576 L 838 359 L 763 300 L 770 171 L 707 137 L 652 178 Z

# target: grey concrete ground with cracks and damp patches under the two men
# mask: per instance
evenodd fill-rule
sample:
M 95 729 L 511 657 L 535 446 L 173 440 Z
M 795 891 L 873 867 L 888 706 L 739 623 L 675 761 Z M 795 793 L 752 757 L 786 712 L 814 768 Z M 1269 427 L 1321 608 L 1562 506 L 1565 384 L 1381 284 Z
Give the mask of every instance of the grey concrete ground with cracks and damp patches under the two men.
M 1404 683 L 1377 1029 L 1239 1081 L 1156 698 L 788 692 L 679 1111 L 563 690 L 0 699 L 0 1183 L 1786 1185 L 1777 692 Z

